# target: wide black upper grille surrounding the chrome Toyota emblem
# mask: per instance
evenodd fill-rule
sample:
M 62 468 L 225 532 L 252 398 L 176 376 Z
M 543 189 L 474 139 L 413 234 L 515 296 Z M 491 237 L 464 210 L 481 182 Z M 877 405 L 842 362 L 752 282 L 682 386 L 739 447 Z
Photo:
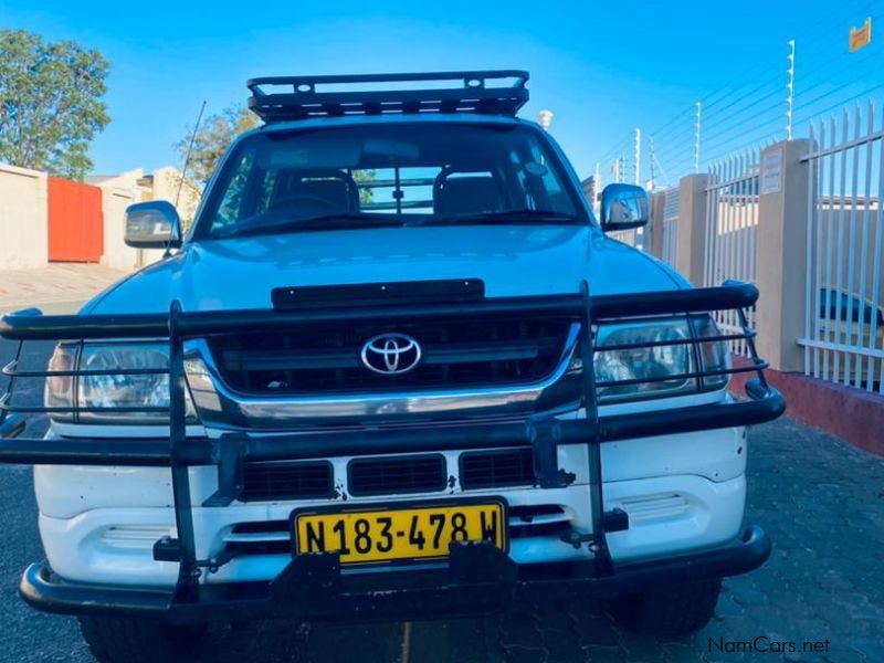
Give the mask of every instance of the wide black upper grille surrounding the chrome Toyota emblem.
M 209 341 L 230 387 L 245 393 L 322 396 L 524 385 L 561 360 L 567 320 L 475 319 L 421 324 L 305 326 L 285 334 L 219 336 Z M 362 345 L 382 334 L 420 344 L 415 368 L 379 375 L 362 365 Z

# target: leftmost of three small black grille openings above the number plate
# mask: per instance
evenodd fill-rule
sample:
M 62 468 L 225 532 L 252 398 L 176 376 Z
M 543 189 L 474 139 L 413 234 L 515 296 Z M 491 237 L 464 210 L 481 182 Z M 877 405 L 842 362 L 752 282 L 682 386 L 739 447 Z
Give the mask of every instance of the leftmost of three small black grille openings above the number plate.
M 240 501 L 329 497 L 333 492 L 330 463 L 249 463 L 243 471 Z

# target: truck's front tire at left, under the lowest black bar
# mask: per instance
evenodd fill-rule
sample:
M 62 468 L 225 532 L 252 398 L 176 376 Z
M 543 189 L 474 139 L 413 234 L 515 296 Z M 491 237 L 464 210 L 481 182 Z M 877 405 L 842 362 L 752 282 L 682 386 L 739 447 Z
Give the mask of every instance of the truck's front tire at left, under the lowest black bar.
M 80 632 L 101 663 L 187 661 L 208 629 L 176 627 L 157 620 L 81 617 Z

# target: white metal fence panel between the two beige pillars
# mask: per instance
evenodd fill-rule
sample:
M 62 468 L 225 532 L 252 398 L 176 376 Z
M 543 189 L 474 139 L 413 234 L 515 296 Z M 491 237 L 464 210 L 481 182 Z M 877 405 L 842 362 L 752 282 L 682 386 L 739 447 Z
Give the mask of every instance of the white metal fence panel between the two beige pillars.
M 760 150 L 755 149 L 709 167 L 703 285 L 719 285 L 726 278 L 756 280 L 759 155 Z M 755 327 L 755 308 L 747 316 L 749 326 Z M 717 323 L 726 334 L 743 328 L 730 312 L 719 313 Z M 732 341 L 730 350 L 746 356 L 746 343 Z

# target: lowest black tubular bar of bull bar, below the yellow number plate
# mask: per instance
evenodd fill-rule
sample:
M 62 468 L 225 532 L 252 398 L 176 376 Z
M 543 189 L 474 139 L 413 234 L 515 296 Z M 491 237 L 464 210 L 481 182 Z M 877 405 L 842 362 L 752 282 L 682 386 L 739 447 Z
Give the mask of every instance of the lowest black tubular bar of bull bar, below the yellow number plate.
M 678 557 L 617 565 L 599 572 L 592 561 L 515 565 L 486 544 L 453 546 L 446 569 L 397 573 L 341 573 L 333 554 L 299 556 L 273 582 L 176 590 L 73 583 L 31 565 L 20 592 L 33 608 L 60 614 L 127 613 L 173 623 L 301 619 L 415 620 L 467 617 L 533 599 L 612 598 L 645 588 L 751 571 L 770 556 L 760 527 L 739 540 Z

